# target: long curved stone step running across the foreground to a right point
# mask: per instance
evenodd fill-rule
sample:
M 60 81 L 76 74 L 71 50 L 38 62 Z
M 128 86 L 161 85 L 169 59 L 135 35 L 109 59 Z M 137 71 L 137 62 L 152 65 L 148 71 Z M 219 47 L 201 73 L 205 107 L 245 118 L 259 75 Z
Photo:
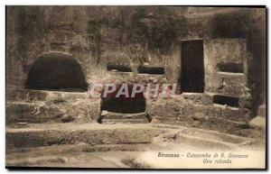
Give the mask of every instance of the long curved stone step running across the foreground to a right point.
M 217 133 L 199 128 L 159 124 L 32 124 L 27 128 L 6 128 L 6 151 L 51 145 L 72 144 L 149 144 L 152 142 L 185 142 L 199 145 L 210 142 L 211 146 L 235 146 L 255 139 Z M 191 144 L 190 144 L 191 143 Z M 223 145 L 224 144 L 224 145 Z M 159 145 L 159 144 L 158 144 Z

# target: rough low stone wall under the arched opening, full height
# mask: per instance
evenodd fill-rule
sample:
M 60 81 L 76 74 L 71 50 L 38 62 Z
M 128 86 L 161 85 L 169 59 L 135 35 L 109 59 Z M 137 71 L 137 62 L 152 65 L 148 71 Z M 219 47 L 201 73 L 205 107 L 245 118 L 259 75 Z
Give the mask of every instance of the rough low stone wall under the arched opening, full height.
M 90 123 L 100 113 L 100 99 L 87 93 L 17 90 L 8 91 L 7 98 L 7 124 Z

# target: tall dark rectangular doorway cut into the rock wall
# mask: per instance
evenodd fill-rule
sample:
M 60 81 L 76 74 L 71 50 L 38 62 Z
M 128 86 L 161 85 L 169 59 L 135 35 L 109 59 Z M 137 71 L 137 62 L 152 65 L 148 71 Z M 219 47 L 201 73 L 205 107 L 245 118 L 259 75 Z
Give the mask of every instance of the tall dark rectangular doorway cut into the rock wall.
M 204 92 L 203 41 L 182 41 L 182 92 Z

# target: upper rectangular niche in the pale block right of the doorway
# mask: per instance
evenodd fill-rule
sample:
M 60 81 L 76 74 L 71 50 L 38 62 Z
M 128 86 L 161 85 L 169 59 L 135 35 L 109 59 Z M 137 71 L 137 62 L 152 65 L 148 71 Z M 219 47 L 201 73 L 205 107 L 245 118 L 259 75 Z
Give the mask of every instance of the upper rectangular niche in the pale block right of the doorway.
M 243 73 L 244 64 L 243 63 L 218 63 L 219 71 L 221 72 L 232 72 L 232 73 Z

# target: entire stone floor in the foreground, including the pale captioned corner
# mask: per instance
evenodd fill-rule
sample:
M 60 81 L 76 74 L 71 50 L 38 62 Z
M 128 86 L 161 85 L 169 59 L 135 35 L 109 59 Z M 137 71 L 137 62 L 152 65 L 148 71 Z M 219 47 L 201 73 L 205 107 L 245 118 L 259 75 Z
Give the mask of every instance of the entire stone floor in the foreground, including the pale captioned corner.
M 251 133 L 253 133 L 253 130 Z M 250 133 L 250 134 L 251 134 Z M 262 130 L 264 134 L 264 130 Z M 186 158 L 189 152 L 248 153 L 226 166 Z M 158 157 L 178 153 L 180 158 Z M 260 160 L 255 160 L 258 157 Z M 264 136 L 238 136 L 170 124 L 27 124 L 6 127 L 6 167 L 264 168 Z

